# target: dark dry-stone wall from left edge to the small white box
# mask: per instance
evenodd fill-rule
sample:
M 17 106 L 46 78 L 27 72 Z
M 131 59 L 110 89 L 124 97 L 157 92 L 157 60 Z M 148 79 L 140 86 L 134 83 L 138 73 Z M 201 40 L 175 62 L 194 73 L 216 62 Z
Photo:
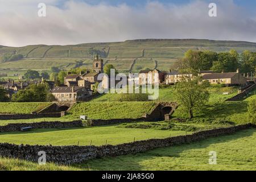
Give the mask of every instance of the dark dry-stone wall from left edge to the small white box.
M 68 127 L 82 127 L 82 121 L 71 122 L 35 122 L 35 123 L 9 123 L 5 126 L 0 126 L 0 132 L 20 131 L 22 127 L 32 127 L 32 129 L 49 129 L 49 128 L 68 128 Z

